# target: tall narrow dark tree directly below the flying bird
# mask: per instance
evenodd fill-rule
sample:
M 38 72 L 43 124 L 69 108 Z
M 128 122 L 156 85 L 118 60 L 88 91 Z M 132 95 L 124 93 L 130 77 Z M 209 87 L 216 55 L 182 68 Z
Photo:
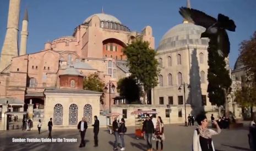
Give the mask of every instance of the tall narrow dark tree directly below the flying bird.
M 227 93 L 230 91 L 231 79 L 226 69 L 225 57 L 217 53 L 217 39 L 211 39 L 208 47 L 208 96 L 211 103 L 218 107 L 227 101 Z

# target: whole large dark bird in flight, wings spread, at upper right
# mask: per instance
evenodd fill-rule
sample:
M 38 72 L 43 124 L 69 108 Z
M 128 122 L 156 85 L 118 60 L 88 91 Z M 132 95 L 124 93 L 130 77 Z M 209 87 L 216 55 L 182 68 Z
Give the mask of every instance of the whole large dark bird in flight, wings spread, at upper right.
M 188 22 L 205 27 L 206 30 L 201 33 L 201 38 L 209 38 L 212 42 L 216 43 L 217 53 L 220 56 L 228 56 L 230 53 L 230 41 L 228 40 L 226 30 L 233 32 L 236 30 L 233 20 L 222 14 L 219 14 L 218 18 L 215 19 L 202 11 L 186 7 L 179 8 L 179 14 Z

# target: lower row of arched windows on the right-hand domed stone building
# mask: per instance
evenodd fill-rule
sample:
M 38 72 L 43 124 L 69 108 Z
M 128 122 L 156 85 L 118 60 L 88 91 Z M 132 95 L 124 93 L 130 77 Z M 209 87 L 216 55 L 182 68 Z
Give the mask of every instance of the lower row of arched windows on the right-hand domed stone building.
M 178 72 L 177 79 L 178 79 L 178 85 L 181 85 L 183 83 L 181 72 Z M 167 80 L 168 80 L 168 85 L 173 85 L 171 73 L 169 73 L 167 75 Z M 200 80 L 201 80 L 201 83 L 205 83 L 205 72 L 204 71 L 200 72 Z M 159 86 L 164 86 L 164 78 L 161 74 L 159 75 Z

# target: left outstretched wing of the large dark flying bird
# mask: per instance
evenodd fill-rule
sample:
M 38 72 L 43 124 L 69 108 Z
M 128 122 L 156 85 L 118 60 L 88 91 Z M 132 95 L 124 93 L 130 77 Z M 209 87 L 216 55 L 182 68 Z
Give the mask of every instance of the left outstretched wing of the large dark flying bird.
M 189 22 L 193 22 L 195 25 L 203 26 L 205 28 L 208 28 L 217 22 L 217 20 L 212 16 L 209 16 L 202 11 L 187 7 L 179 8 L 179 14 Z

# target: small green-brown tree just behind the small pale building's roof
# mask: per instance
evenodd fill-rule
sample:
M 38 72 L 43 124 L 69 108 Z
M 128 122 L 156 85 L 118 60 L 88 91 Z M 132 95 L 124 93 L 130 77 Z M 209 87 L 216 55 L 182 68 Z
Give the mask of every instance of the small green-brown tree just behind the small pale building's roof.
M 100 79 L 98 74 L 90 74 L 84 79 L 84 89 L 91 91 L 103 92 L 104 82 Z

